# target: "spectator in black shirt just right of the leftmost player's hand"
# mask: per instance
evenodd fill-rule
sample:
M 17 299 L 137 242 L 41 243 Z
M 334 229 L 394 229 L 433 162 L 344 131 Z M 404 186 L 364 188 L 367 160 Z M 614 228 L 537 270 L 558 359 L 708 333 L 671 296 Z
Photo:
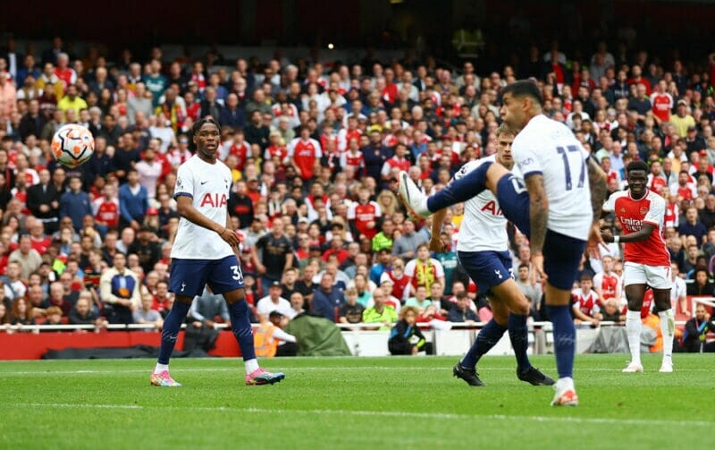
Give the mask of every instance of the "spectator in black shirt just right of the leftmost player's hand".
M 258 250 L 263 250 L 258 258 Z M 261 289 L 265 294 L 274 281 L 281 281 L 283 271 L 293 267 L 293 246 L 283 233 L 282 220 L 273 221 L 273 230 L 258 239 L 251 250 L 258 274 L 261 276 Z

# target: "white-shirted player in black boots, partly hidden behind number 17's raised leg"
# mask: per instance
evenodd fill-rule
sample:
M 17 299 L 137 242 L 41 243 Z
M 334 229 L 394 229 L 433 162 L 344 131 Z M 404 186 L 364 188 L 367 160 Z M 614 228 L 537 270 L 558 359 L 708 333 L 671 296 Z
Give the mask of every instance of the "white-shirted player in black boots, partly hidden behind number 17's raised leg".
M 509 170 L 514 167 L 511 157 L 511 143 L 516 135 L 505 124 L 497 129 L 497 153 L 470 161 L 454 175 L 459 180 L 487 162 L 497 161 Z M 440 227 L 446 209 L 434 213 L 430 250 L 442 251 L 439 239 Z M 507 219 L 501 214 L 501 208 L 491 191 L 482 191 L 476 197 L 467 200 L 464 205 L 465 224 L 459 229 L 457 255 L 462 267 L 479 287 L 480 293 L 486 293 L 492 306 L 493 318 L 479 331 L 475 343 L 467 354 L 452 369 L 455 377 L 462 378 L 470 386 L 484 386 L 476 373 L 475 366 L 479 359 L 496 345 L 504 332 L 509 329 L 509 339 L 517 357 L 517 378 L 534 386 L 551 386 L 553 379 L 534 368 L 526 355 L 528 347 L 528 328 L 526 316 L 530 305 L 526 295 L 514 281 L 509 255 L 509 237 Z

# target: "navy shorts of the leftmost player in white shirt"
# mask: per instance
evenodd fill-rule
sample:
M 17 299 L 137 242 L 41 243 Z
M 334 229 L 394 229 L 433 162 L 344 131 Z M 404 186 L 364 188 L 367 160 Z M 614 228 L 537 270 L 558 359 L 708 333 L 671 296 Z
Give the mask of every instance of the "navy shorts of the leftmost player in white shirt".
M 172 259 L 169 292 L 194 297 L 206 283 L 216 294 L 243 289 L 243 273 L 235 255 L 223 259 Z

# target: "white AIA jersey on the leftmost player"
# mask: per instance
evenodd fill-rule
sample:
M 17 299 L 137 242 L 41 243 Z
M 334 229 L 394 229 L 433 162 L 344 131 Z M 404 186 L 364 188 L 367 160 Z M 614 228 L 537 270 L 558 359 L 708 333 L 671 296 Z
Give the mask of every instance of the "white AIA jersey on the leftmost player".
M 179 167 L 173 195 L 174 198 L 189 196 L 198 212 L 225 226 L 230 189 L 231 169 L 228 166 L 220 160 L 209 164 L 194 155 Z M 221 236 L 181 217 L 173 242 L 172 258 L 222 259 L 233 254 L 231 245 Z

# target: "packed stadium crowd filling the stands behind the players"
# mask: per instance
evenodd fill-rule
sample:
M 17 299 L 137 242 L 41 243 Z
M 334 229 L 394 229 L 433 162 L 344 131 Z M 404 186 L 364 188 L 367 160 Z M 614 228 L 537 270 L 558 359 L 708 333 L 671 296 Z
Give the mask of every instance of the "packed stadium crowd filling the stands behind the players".
M 220 157 L 233 174 L 231 197 L 206 201 L 225 203 L 240 234 L 257 322 L 277 310 L 284 326 L 306 311 L 387 327 L 404 306 L 422 324 L 486 321 L 489 305 L 454 250 L 469 226 L 463 207 L 442 224 L 447 250 L 431 254 L 430 220 L 408 220 L 396 174 L 408 171 L 432 192 L 467 161 L 495 153 L 500 90 L 524 78 L 600 161 L 610 192 L 624 189 L 630 161 L 650 165 L 649 187 L 668 201 L 679 312 L 694 316 L 686 295 L 715 290 L 715 54 L 666 63 L 637 49 L 614 55 L 601 42 L 579 60 L 554 43 L 484 73 L 472 60 L 454 69 L 433 58 L 227 61 L 212 51 L 167 61 L 154 47 L 112 61 L 97 48 L 68 55 L 55 38 L 46 52 L 22 55 L 10 39 L 0 55 L 2 324 L 161 327 L 172 307 L 175 174 L 192 155 L 192 124 L 206 115 L 222 124 Z M 64 123 L 95 137 L 78 169 L 50 152 Z M 613 217 L 603 226 L 619 233 Z M 526 239 L 510 236 L 517 282 L 533 318 L 546 319 Z M 603 259 L 584 259 L 575 284 L 578 324 L 623 320 L 621 249 L 601 250 Z M 227 320 L 215 298 L 195 301 L 191 327 Z M 710 318 L 699 310 L 694 319 Z

